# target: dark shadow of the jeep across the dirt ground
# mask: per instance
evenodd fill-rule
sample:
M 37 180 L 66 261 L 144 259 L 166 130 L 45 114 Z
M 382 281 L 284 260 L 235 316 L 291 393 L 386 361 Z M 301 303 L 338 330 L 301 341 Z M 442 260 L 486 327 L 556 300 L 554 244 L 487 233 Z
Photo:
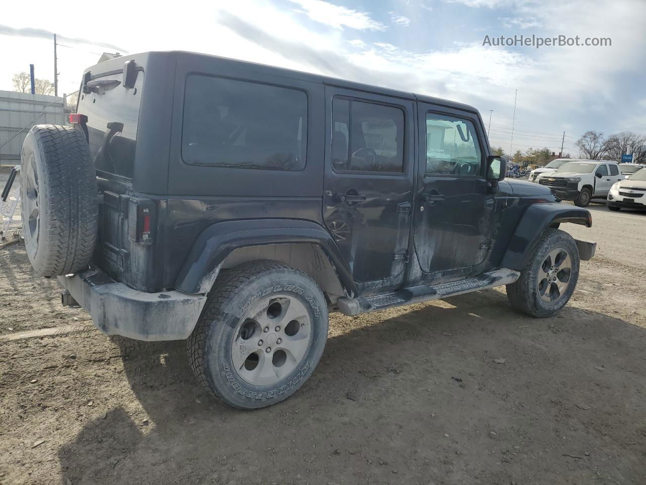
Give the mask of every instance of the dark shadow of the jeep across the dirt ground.
M 196 383 L 184 342 L 115 338 L 146 416 L 123 403 L 84 426 L 62 483 L 636 483 L 645 330 L 572 306 L 528 318 L 496 290 L 333 316 L 313 376 L 253 412 Z

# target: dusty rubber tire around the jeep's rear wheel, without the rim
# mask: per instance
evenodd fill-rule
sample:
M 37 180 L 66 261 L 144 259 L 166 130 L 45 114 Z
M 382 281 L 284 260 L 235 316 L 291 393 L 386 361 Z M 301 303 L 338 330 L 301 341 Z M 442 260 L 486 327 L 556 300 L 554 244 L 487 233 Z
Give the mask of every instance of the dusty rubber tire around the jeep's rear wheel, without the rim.
M 248 309 L 257 302 L 286 293 L 309 312 L 307 350 L 297 367 L 278 382 L 253 385 L 240 377 L 233 363 L 231 347 L 238 325 L 249 318 Z M 281 402 L 303 385 L 317 366 L 327 338 L 328 307 L 313 279 L 277 261 L 253 261 L 218 275 L 187 351 L 198 381 L 216 398 L 239 409 L 258 409 Z

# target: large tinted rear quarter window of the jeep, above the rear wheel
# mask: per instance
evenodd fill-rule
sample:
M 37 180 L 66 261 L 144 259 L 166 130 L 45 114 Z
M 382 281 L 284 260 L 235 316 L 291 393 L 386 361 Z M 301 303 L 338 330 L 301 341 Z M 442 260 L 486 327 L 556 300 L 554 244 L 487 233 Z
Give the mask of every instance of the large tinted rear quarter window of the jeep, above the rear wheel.
M 182 158 L 189 164 L 302 170 L 306 133 L 302 91 L 199 75 L 186 80 Z

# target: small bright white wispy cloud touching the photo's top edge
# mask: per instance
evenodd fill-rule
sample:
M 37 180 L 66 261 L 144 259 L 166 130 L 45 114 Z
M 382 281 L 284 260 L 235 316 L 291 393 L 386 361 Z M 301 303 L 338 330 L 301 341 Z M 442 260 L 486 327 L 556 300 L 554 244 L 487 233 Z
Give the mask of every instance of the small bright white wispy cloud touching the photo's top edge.
M 301 7 L 302 12 L 311 20 L 342 29 L 344 26 L 357 30 L 386 30 L 386 26 L 365 12 L 351 10 L 323 0 L 289 0 Z

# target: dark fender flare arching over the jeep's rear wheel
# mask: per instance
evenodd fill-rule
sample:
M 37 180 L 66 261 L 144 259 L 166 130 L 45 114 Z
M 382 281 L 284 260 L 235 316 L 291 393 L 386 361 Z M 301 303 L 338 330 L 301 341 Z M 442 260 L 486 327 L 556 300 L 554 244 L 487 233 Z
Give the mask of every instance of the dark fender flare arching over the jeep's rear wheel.
M 174 288 L 185 293 L 207 293 L 227 256 L 238 248 L 264 244 L 317 244 L 328 257 L 348 296 L 357 295 L 348 265 L 330 233 L 313 221 L 247 219 L 216 222 L 200 233 L 187 256 Z

